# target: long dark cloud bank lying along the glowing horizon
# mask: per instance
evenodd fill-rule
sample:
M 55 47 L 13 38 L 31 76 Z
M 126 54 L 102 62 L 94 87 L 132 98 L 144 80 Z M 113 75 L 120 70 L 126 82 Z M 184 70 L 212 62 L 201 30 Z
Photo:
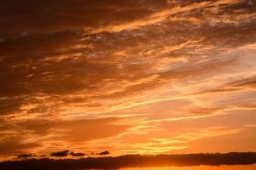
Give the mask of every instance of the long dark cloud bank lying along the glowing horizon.
M 231 152 L 225 154 L 186 154 L 117 157 L 88 157 L 79 160 L 31 159 L 26 161 L 5 161 L 0 163 L 1 170 L 76 170 L 76 169 L 119 169 L 123 167 L 166 167 L 166 166 L 219 166 L 248 165 L 256 163 L 256 152 Z

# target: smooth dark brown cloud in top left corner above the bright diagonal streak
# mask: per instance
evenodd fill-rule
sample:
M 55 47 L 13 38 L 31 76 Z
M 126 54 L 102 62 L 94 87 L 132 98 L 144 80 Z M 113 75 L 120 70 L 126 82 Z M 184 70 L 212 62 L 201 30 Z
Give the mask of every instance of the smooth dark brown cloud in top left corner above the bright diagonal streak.
M 164 8 L 165 5 L 164 0 L 149 0 L 147 3 L 130 0 L 2 1 L 0 27 L 1 32 L 7 33 L 78 30 L 142 18 L 152 13 L 152 9 Z

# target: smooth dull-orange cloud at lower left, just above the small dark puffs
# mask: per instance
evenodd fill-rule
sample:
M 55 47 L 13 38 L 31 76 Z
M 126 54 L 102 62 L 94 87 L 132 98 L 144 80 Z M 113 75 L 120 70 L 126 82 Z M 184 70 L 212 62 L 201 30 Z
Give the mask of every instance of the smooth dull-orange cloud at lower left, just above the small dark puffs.
M 104 139 L 124 133 L 130 125 L 117 124 L 120 118 L 103 118 L 88 120 L 27 120 L 6 123 L 0 126 L 0 154 L 2 156 L 13 156 L 28 151 L 39 150 L 39 148 L 52 145 L 58 141 L 61 146 L 54 144 L 52 150 L 61 150 L 62 147 L 79 145 L 86 148 L 87 142 L 95 139 Z M 23 133 L 24 136 L 20 136 Z M 51 148 L 53 146 L 50 146 Z M 73 147 L 70 148 L 71 150 Z M 67 155 L 67 151 L 60 153 Z M 70 153 L 71 154 L 71 153 Z M 37 155 L 39 155 L 37 153 Z M 57 156 L 55 153 L 53 156 Z M 82 156 L 82 153 L 72 153 L 72 156 Z

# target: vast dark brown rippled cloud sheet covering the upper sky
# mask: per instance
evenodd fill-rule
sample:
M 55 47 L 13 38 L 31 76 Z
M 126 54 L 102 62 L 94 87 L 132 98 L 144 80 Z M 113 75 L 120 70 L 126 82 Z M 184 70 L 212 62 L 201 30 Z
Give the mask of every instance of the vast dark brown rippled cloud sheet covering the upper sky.
M 140 19 L 150 18 L 150 14 L 166 8 L 180 6 L 186 8 L 205 1 L 177 1 L 169 7 L 166 1 L 2 1 L 0 3 L 0 80 L 1 115 L 20 113 L 22 105 L 41 103 L 38 97 L 44 95 L 52 101 L 79 103 L 91 107 L 97 99 L 109 99 L 141 94 L 159 87 L 163 82 L 182 80 L 208 73 L 218 66 L 226 67 L 230 60 L 216 60 L 221 49 L 240 47 L 255 42 L 255 3 L 247 1 L 223 4 L 218 14 L 212 14 L 201 6 L 201 10 L 183 10 L 174 17 L 195 17 L 199 25 L 191 21 L 165 20 L 158 25 L 146 25 L 141 29 L 120 32 L 103 31 L 86 34 L 81 28 L 116 26 Z M 215 3 L 217 1 L 207 1 Z M 192 10 L 192 9 L 191 9 Z M 238 11 L 238 12 L 237 12 Z M 222 20 L 237 16 L 236 26 Z M 246 20 L 239 19 L 247 16 Z M 211 19 L 211 20 L 210 20 Z M 231 20 L 232 18 L 230 18 Z M 211 21 L 218 21 L 211 24 Z M 227 19 L 226 19 L 227 20 Z M 234 22 L 235 22 L 234 21 Z M 32 31 L 32 32 L 30 32 Z M 34 31 L 37 31 L 35 33 Z M 174 33 L 175 32 L 175 33 Z M 178 47 L 184 42 L 203 39 L 196 43 L 211 50 L 196 51 L 195 47 L 185 47 L 166 52 L 148 54 L 152 48 L 156 52 L 166 47 Z M 237 41 L 239 39 L 239 41 Z M 172 40 L 172 41 L 170 41 Z M 143 45 L 147 44 L 147 45 Z M 74 48 L 76 45 L 81 47 Z M 84 47 L 83 47 L 84 46 Z M 90 48 L 88 48 L 88 46 Z M 214 46 L 214 48 L 212 48 Z M 201 48 L 201 47 L 198 47 Z M 116 54 L 124 51 L 125 55 Z M 208 56 L 208 62 L 201 62 L 201 56 Z M 187 64 L 174 65 L 172 69 L 154 71 L 152 68 L 160 59 L 175 59 L 183 56 Z M 79 56 L 79 57 L 78 57 Z M 195 58 L 195 56 L 197 56 Z M 235 61 L 236 56 L 232 57 Z M 54 62 L 57 61 L 57 62 Z M 166 65 L 167 66 L 167 65 Z M 106 80 L 113 84 L 120 82 L 140 82 L 158 75 L 154 81 L 130 85 L 112 94 L 105 93 Z M 131 83 L 132 84 L 132 83 Z M 89 97 L 67 99 L 64 95 L 84 93 Z M 41 105 L 30 113 L 45 111 L 49 105 Z M 42 109 L 44 108 L 44 110 Z M 55 111 L 50 111 L 55 112 Z

